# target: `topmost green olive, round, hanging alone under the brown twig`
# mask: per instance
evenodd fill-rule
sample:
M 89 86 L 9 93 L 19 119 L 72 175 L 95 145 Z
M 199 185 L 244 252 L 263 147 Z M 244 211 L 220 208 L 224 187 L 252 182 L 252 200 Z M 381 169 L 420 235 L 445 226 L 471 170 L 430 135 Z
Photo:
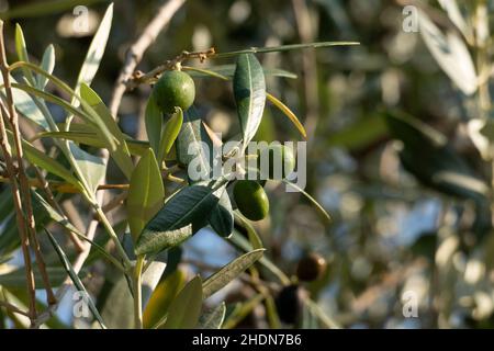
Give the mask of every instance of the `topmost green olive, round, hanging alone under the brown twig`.
M 180 70 L 166 71 L 156 82 L 153 94 L 164 113 L 173 113 L 176 107 L 187 111 L 195 99 L 194 81 Z

